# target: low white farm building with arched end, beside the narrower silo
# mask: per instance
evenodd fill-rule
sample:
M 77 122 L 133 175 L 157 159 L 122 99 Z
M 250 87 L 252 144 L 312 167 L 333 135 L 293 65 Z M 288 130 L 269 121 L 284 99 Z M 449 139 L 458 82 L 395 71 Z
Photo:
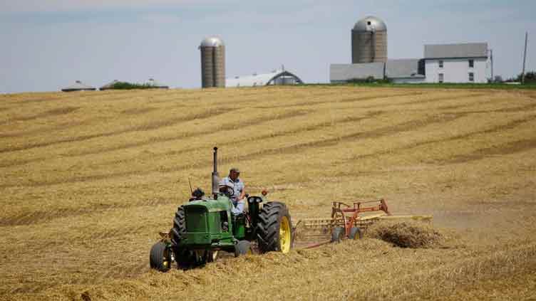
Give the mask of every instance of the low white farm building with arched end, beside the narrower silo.
M 297 75 L 287 70 L 271 73 L 236 76 L 225 80 L 225 87 L 256 87 L 260 85 L 299 85 L 304 83 Z

